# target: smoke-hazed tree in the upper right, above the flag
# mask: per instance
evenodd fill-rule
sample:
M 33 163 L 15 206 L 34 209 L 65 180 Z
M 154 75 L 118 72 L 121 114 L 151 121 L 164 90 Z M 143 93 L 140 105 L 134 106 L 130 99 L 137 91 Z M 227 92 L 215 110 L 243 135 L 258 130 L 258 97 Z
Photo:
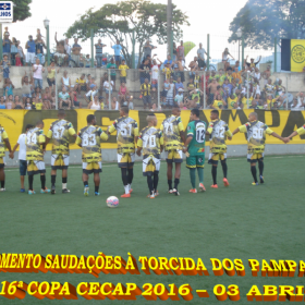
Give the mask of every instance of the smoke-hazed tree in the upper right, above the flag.
M 229 42 L 243 29 L 245 45 L 255 49 L 273 47 L 274 38 L 305 38 L 304 0 L 248 0 L 230 24 Z

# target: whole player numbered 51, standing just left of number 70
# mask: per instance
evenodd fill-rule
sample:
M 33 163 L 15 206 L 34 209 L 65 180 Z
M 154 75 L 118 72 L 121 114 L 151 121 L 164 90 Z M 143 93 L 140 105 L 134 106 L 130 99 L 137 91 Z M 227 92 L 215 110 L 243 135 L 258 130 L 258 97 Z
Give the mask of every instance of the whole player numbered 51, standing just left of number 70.
M 117 131 L 118 142 L 118 164 L 122 172 L 122 181 L 125 194 L 122 198 L 131 197 L 133 182 L 133 166 L 135 160 L 135 143 L 138 138 L 137 122 L 129 117 L 129 108 L 121 107 L 120 118 L 108 127 L 110 135 Z

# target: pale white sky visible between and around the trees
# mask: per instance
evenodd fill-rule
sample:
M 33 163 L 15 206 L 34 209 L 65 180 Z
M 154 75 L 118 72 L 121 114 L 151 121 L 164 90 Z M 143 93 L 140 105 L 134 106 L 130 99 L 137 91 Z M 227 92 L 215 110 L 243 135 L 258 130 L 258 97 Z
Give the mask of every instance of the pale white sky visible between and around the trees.
M 167 4 L 167 0 L 150 0 L 156 3 Z M 12 37 L 21 40 L 22 46 L 25 46 L 28 35 L 35 35 L 37 28 L 40 28 L 45 36 L 46 29 L 44 27 L 44 20 L 47 17 L 50 21 L 50 42 L 54 45 L 54 33 L 58 32 L 59 38 L 64 38 L 63 34 L 75 20 L 78 20 L 82 14 L 89 8 L 98 9 L 106 3 L 117 3 L 115 0 L 90 0 L 86 7 L 84 1 L 72 0 L 33 0 L 30 4 L 32 17 L 9 24 L 9 32 Z M 227 0 L 213 1 L 196 1 L 196 0 L 173 0 L 173 3 L 190 17 L 191 26 L 183 26 L 183 40 L 193 41 L 196 46 L 203 42 L 204 48 L 207 46 L 207 34 L 210 34 L 210 56 L 212 59 L 221 58 L 225 47 L 236 59 L 239 57 L 237 44 L 228 42 L 230 36 L 229 25 L 236 15 L 236 13 L 245 5 L 247 0 L 234 0 L 228 2 Z M 4 25 L 5 26 L 5 25 Z M 97 39 L 97 38 L 96 38 Z M 107 45 L 105 52 L 112 53 L 110 48 L 110 40 L 102 39 Z M 72 40 L 71 40 L 72 42 Z M 154 38 L 152 38 L 154 44 Z M 83 51 L 89 53 L 90 42 L 82 42 Z M 197 48 L 194 48 L 187 58 L 191 60 L 196 54 Z M 166 46 L 158 46 L 156 53 L 160 59 L 164 59 L 167 54 Z M 253 52 L 253 57 L 258 58 L 259 52 Z

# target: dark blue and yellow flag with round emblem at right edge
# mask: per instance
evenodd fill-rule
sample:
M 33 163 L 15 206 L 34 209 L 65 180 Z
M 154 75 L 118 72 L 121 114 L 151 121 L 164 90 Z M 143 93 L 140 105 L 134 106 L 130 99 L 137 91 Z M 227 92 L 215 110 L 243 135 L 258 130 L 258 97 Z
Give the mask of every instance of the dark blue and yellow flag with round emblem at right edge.
M 305 39 L 282 39 L 281 66 L 284 71 L 303 72 Z

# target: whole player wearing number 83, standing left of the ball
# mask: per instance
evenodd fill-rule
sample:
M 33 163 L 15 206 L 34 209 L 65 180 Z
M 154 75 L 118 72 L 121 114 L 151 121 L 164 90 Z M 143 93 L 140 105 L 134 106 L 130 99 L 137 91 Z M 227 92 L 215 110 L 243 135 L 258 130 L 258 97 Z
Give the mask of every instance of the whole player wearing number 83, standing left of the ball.
M 108 135 L 96 126 L 96 117 L 87 115 L 87 126 L 78 132 L 76 144 L 82 147 L 84 195 L 89 195 L 88 175 L 94 173 L 95 196 L 99 196 L 99 173 L 101 172 L 100 141 L 107 141 Z

